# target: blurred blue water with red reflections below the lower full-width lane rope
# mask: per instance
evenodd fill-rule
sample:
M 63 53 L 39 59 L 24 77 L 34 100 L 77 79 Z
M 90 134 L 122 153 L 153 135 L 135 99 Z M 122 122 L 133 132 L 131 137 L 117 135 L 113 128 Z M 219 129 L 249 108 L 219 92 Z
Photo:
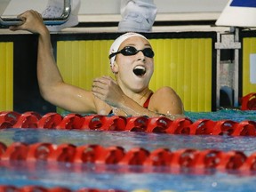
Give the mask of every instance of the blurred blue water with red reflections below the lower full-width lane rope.
M 7 167 L 7 165 L 5 164 Z M 62 187 L 122 189 L 132 191 L 147 188 L 150 191 L 254 191 L 255 177 L 217 172 L 214 174 L 175 174 L 162 172 L 116 172 L 118 167 L 95 166 L 93 164 L 9 164 L 1 166 L 0 184 L 40 185 L 46 188 Z M 136 169 L 136 168 L 134 168 Z

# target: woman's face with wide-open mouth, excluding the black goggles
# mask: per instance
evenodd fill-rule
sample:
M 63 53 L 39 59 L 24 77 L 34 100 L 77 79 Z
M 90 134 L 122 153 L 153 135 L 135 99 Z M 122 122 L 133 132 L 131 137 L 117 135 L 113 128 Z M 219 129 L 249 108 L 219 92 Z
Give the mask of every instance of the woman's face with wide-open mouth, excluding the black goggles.
M 148 40 L 140 36 L 132 36 L 126 39 L 119 47 L 132 46 L 136 50 L 151 48 Z M 141 92 L 148 88 L 151 76 L 154 72 L 154 60 L 147 57 L 143 52 L 125 56 L 122 53 L 116 55 L 113 72 L 116 74 L 116 81 L 122 89 L 130 89 L 132 92 Z

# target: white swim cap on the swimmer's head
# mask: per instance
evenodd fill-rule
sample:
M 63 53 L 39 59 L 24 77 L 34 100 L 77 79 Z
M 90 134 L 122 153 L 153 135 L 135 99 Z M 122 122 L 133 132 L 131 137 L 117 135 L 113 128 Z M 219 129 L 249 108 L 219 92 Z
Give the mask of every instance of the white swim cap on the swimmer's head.
M 119 36 L 118 38 L 116 38 L 115 42 L 111 45 L 110 49 L 109 49 L 109 55 L 112 54 L 113 52 L 118 52 L 118 49 L 120 47 L 120 45 L 127 39 L 130 38 L 132 36 L 141 36 L 145 39 L 147 39 L 145 36 L 142 36 L 138 33 L 133 33 L 133 32 L 129 32 L 129 33 L 125 33 L 122 36 Z M 147 39 L 148 40 L 148 39 Z M 116 55 L 114 55 L 112 58 L 109 59 L 110 60 L 110 68 L 113 67 L 114 61 L 116 60 Z

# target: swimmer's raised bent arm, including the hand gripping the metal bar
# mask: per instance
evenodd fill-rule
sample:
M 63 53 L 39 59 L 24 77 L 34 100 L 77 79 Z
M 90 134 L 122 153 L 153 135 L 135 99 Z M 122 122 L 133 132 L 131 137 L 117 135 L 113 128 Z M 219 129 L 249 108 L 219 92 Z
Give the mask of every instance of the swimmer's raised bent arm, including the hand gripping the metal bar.
M 92 92 L 65 84 L 52 53 L 51 36 L 38 12 L 27 11 L 19 16 L 24 23 L 11 30 L 28 30 L 38 34 L 37 79 L 45 100 L 77 113 L 95 112 Z

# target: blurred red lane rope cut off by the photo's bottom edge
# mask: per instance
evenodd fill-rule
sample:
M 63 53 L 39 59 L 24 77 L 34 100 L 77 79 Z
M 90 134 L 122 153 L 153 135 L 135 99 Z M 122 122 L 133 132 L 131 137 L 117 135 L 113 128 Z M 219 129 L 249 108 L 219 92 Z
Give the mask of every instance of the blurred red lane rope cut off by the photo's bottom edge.
M 15 187 L 12 185 L 1 185 L 0 192 L 125 192 L 124 190 L 115 190 L 115 189 L 97 189 L 97 188 L 80 188 L 78 190 L 71 190 L 69 188 L 44 188 L 42 186 L 24 186 L 24 187 Z

